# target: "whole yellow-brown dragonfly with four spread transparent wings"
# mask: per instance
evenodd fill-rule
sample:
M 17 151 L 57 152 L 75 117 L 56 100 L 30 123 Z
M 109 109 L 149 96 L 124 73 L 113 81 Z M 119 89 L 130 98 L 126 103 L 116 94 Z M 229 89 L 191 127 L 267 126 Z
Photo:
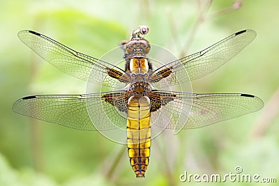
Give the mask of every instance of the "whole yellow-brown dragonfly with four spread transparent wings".
M 148 57 L 148 26 L 135 29 L 121 43 L 125 67 L 77 52 L 36 31 L 18 37 L 38 56 L 68 75 L 113 89 L 81 95 L 30 95 L 13 104 L 24 116 L 77 130 L 122 128 L 130 165 L 145 176 L 155 127 L 175 130 L 204 127 L 262 109 L 264 102 L 246 93 L 191 93 L 167 88 L 203 77 L 232 59 L 256 37 L 250 29 L 236 32 L 200 52 L 154 68 Z M 94 89 L 94 88 L 93 88 Z M 116 133 L 116 132 L 114 132 Z M 122 134 L 121 134 L 122 135 Z

